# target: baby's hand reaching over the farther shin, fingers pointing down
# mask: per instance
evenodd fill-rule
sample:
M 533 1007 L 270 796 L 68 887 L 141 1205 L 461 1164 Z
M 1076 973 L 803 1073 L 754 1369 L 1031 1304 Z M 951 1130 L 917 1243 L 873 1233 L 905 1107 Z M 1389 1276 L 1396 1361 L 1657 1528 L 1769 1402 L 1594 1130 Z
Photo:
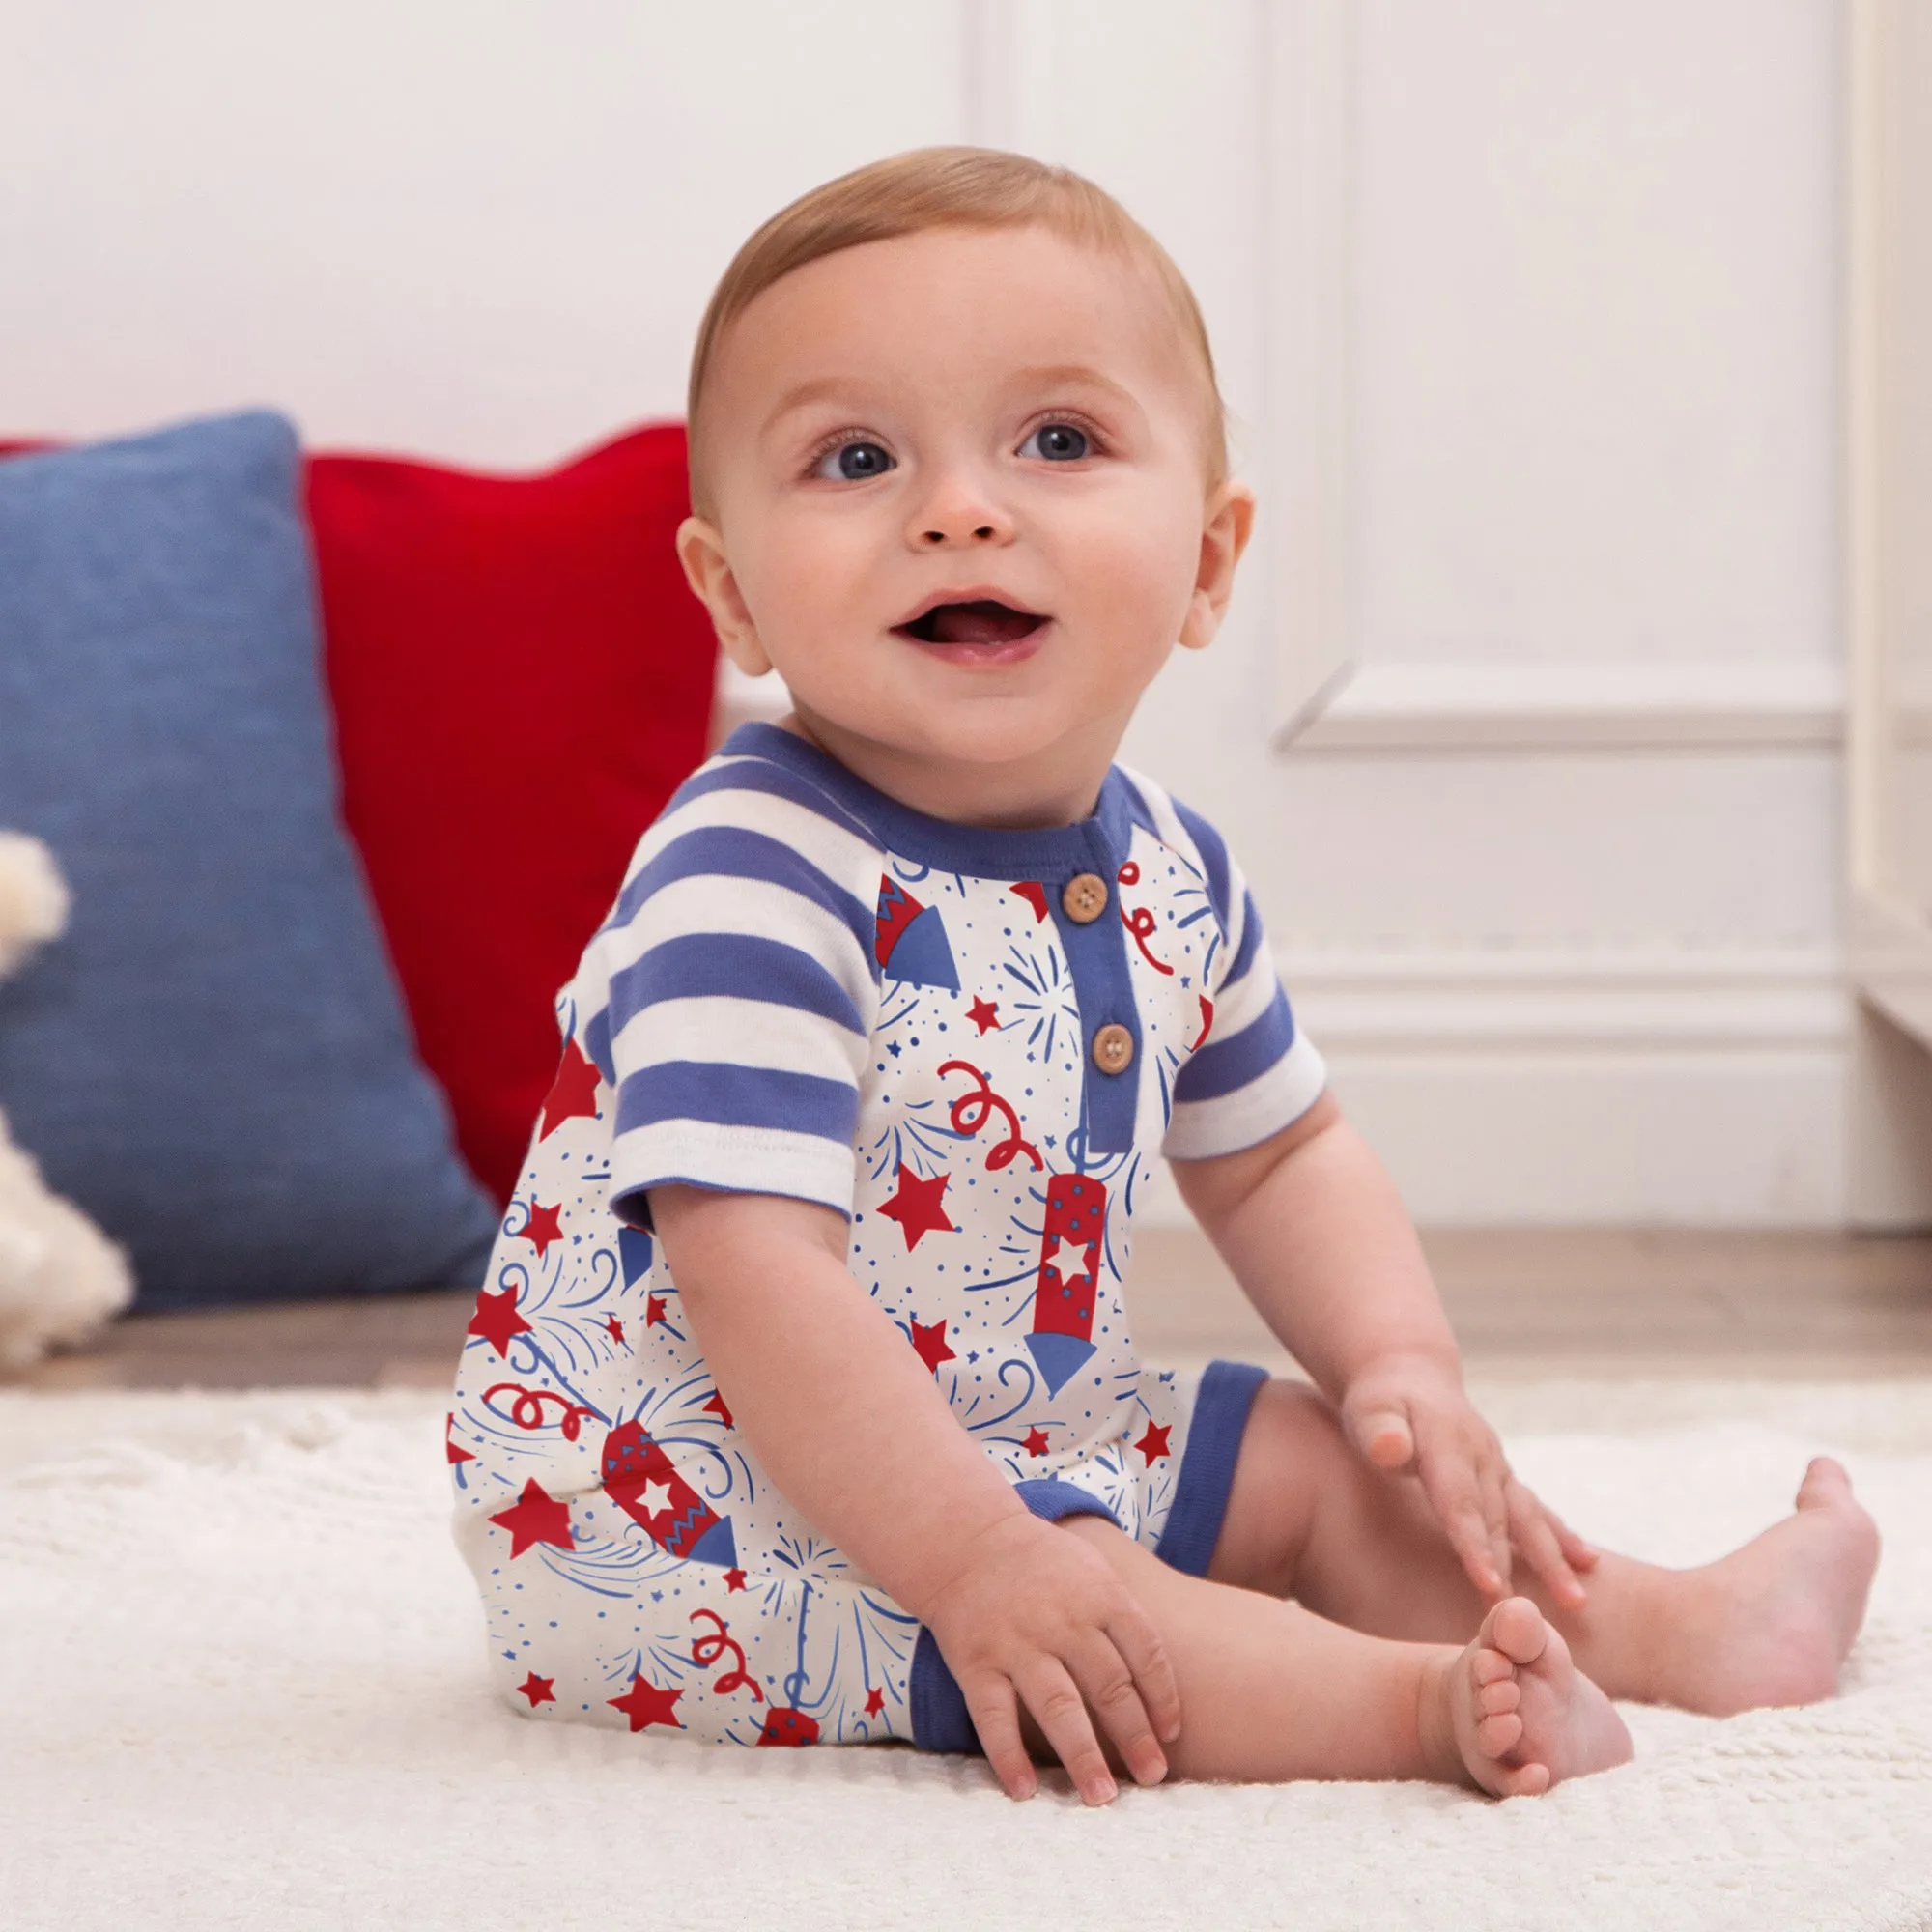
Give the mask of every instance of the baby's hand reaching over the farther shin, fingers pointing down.
M 1341 1414 L 1376 1468 L 1420 1478 L 1484 1596 L 1509 1594 L 1515 1549 L 1561 1607 L 1582 1605 L 1577 1571 L 1594 1569 L 1596 1551 L 1517 1482 L 1495 1430 L 1470 1408 L 1453 1372 L 1432 1356 L 1383 1356 L 1349 1383 Z

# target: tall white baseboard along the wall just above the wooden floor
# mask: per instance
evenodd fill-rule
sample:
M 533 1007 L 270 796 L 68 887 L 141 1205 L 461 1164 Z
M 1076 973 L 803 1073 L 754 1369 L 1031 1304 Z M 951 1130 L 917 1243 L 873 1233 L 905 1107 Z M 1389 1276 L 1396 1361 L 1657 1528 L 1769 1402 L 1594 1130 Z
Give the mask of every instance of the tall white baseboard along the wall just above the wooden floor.
M 1333 1088 L 1428 1227 L 1839 1227 L 1833 954 L 1285 954 Z M 1186 1211 L 1167 1177 L 1155 1225 Z

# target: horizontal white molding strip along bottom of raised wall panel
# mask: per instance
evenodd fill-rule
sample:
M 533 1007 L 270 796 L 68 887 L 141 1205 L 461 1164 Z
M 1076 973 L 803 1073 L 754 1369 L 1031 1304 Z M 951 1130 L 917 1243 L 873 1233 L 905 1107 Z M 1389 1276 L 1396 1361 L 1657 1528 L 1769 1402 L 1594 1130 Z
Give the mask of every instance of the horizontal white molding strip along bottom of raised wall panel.
M 1843 670 L 1737 663 L 1364 665 L 1294 734 L 1296 755 L 1830 750 Z

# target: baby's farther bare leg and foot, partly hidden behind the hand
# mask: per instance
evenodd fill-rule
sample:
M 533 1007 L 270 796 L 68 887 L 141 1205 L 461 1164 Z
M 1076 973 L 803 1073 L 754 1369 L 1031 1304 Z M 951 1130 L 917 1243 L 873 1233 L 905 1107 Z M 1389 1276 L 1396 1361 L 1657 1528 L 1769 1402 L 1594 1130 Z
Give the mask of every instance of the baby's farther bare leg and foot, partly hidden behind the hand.
M 1718 1563 L 1667 1571 L 1605 1551 L 1580 1611 L 1559 1609 L 1520 1557 L 1513 1588 L 1611 1696 L 1729 1716 L 1833 1694 L 1876 1563 L 1872 1519 L 1820 1457 L 1797 1511 Z M 1420 1486 L 1372 1470 L 1335 1408 L 1285 1381 L 1256 1397 L 1209 1577 L 1405 1640 L 1461 1642 L 1488 1609 Z

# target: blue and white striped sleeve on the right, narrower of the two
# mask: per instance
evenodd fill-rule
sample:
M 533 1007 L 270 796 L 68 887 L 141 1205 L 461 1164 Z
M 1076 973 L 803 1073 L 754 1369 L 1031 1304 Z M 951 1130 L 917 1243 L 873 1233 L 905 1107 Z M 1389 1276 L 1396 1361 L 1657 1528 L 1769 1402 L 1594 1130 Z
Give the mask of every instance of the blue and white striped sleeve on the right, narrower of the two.
M 1209 962 L 1211 1003 L 1202 1043 L 1175 1074 L 1175 1107 L 1161 1148 L 1177 1161 L 1202 1161 L 1258 1146 L 1298 1121 L 1327 1086 L 1321 1055 L 1294 1024 L 1262 916 L 1221 835 L 1173 802 L 1221 927 Z

